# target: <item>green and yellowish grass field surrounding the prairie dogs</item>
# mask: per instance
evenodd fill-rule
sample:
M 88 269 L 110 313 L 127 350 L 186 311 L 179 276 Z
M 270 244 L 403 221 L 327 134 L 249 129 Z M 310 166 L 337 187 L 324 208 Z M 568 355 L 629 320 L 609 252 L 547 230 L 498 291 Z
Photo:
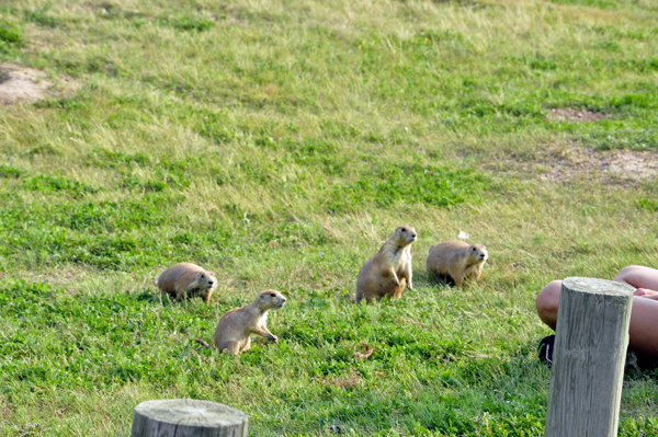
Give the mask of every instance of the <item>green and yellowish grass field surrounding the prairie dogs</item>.
M 0 435 L 128 436 L 163 398 L 262 436 L 543 435 L 538 290 L 658 265 L 656 179 L 545 181 L 543 157 L 656 150 L 657 19 L 648 0 L 4 1 L 0 61 L 55 89 L 0 107 Z M 564 107 L 609 118 L 546 119 Z M 416 289 L 350 303 L 404 223 Z M 461 230 L 489 250 L 481 284 L 430 281 L 428 248 Z M 154 289 L 181 261 L 216 273 L 209 307 Z M 290 298 L 279 344 L 194 342 L 266 288 Z M 656 372 L 628 373 L 620 435 L 658 436 Z

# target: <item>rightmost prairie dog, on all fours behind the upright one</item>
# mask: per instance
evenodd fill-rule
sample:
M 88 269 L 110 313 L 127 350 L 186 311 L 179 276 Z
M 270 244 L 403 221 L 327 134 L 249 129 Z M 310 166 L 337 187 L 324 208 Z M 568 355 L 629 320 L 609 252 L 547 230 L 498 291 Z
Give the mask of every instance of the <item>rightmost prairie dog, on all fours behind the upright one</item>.
M 429 274 L 450 275 L 455 286 L 461 287 L 464 278 L 469 276 L 475 276 L 479 283 L 488 257 L 487 248 L 481 244 L 449 240 L 430 246 L 426 267 Z

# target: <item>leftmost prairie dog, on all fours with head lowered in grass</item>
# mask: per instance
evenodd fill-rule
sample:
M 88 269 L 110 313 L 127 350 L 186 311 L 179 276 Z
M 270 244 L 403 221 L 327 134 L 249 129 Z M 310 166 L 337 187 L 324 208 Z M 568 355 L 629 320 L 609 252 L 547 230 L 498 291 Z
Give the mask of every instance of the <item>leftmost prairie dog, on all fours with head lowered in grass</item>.
M 198 296 L 205 304 L 211 302 L 211 295 L 217 286 L 217 278 L 196 264 L 179 263 L 167 268 L 154 283 L 162 294 L 168 294 L 175 301 L 184 297 Z

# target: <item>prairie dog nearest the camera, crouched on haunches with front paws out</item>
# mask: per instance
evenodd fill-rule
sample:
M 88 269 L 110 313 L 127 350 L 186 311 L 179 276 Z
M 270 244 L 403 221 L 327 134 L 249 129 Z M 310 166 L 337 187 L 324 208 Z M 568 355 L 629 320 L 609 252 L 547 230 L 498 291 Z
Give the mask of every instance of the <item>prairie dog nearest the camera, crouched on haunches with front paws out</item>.
M 242 308 L 235 308 L 219 319 L 215 329 L 215 346 L 230 356 L 251 347 L 251 334 L 279 342 L 276 335 L 268 331 L 268 311 L 285 304 L 285 298 L 276 290 L 261 291 L 256 300 Z

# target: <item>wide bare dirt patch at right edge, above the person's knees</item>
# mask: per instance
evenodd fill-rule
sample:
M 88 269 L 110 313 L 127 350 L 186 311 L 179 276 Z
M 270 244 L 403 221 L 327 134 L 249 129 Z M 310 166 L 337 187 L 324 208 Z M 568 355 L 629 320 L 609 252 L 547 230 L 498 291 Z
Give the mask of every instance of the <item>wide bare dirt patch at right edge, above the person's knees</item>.
M 569 145 L 561 150 L 548 151 L 541 161 L 551 169 L 542 175 L 547 181 L 587 176 L 639 182 L 658 176 L 656 150 L 597 150 Z

